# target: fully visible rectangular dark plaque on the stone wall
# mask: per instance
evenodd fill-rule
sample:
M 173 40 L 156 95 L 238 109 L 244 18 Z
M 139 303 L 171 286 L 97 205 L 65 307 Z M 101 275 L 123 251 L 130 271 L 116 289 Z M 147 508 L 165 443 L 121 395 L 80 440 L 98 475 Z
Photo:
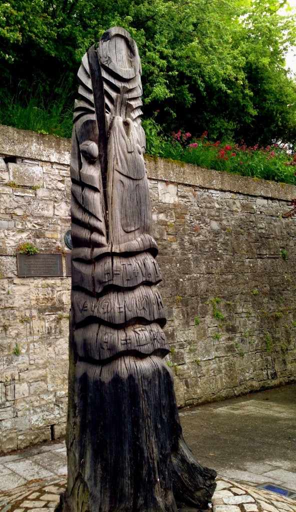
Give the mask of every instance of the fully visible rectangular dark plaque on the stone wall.
M 17 254 L 17 275 L 21 278 L 62 276 L 61 254 Z

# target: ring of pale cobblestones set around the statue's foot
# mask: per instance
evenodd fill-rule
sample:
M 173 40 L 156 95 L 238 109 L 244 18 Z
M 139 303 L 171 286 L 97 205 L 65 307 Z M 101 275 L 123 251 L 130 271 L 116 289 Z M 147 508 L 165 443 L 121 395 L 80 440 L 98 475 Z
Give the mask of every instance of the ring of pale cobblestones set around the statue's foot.
M 54 512 L 65 488 L 66 478 L 32 480 L 0 492 L 0 511 Z M 276 493 L 218 478 L 211 508 L 213 512 L 296 512 L 296 502 Z M 194 508 L 190 510 L 194 512 Z

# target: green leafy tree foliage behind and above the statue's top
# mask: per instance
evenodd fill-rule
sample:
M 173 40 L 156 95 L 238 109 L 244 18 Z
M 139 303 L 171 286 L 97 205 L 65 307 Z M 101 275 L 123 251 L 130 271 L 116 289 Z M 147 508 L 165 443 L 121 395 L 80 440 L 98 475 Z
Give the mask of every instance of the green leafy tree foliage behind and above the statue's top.
M 76 94 L 83 53 L 111 26 L 136 40 L 145 114 L 167 131 L 248 143 L 296 138 L 296 83 L 285 52 L 296 40 L 286 0 L 10 0 L 0 5 L 4 88 L 24 98 Z M 1 91 L 0 91 L 1 93 Z

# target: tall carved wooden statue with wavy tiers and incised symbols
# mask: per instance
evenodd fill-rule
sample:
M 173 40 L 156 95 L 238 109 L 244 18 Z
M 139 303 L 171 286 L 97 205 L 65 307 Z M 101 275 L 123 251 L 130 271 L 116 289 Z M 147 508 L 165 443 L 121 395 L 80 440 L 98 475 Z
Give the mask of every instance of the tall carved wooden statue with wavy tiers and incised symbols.
M 180 426 L 152 237 L 135 41 L 112 28 L 82 58 L 71 154 L 68 486 L 62 512 L 207 508 L 216 472 Z

